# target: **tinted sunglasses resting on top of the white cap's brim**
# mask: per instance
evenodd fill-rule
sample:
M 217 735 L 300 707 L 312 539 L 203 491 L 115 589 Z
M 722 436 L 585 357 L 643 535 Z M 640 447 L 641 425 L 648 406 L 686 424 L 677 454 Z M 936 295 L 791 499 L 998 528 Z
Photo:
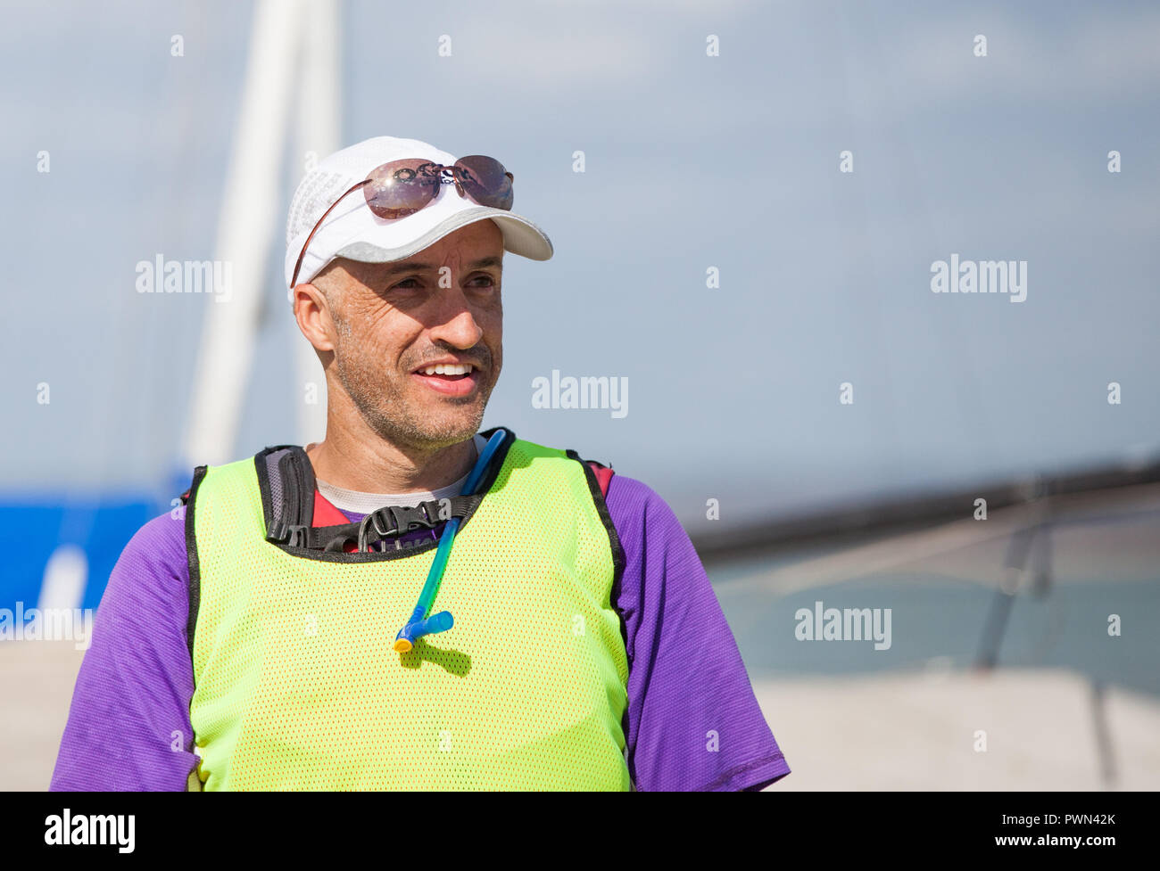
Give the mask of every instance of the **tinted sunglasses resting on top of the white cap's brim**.
M 298 254 L 290 287 L 293 288 L 297 284 L 306 249 L 310 248 L 310 241 L 322 226 L 326 215 L 360 188 L 363 189 L 363 197 L 370 211 L 385 221 L 398 221 L 434 203 L 443 184 L 454 184 L 461 197 L 481 206 L 510 211 L 513 181 L 515 176 L 508 173 L 502 163 L 481 154 L 459 158 L 450 167 L 422 158 L 392 160 L 390 163 L 376 167 L 363 181 L 350 188 L 322 212 L 322 217 L 306 236 L 306 242 Z

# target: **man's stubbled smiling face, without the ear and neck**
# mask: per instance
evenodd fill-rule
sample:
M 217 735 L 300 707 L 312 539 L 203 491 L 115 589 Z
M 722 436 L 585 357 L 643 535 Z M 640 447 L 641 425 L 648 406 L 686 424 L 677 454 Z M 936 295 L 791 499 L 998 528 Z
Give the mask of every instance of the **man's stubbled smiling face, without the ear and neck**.
M 397 445 L 471 438 L 503 364 L 503 236 L 469 224 L 406 261 L 340 259 L 316 278 L 334 323 L 335 373 L 367 424 Z M 465 364 L 469 374 L 426 374 Z

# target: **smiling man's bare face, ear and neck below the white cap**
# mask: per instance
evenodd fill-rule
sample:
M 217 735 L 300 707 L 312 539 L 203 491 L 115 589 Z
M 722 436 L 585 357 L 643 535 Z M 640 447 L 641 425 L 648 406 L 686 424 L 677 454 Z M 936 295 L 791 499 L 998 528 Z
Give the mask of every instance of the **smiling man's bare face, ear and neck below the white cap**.
M 401 263 L 336 259 L 298 285 L 298 325 L 338 381 L 307 451 L 318 477 L 396 493 L 466 473 L 503 365 L 502 271 L 503 234 L 484 220 Z

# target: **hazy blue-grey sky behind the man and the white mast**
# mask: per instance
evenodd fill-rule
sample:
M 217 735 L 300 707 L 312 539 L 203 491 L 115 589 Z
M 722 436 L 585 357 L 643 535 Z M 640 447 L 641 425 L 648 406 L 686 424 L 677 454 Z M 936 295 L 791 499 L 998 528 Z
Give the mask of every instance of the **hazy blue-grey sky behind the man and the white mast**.
M 340 8 L 343 144 L 494 155 L 554 244 L 506 258 L 485 427 L 610 462 L 682 520 L 718 499 L 728 524 L 1160 449 L 1154 3 Z M 0 499 L 167 502 L 216 303 L 138 293 L 136 264 L 215 256 L 253 7 L 3 17 Z M 304 440 L 287 151 L 238 459 Z M 1025 299 L 933 293 L 952 255 L 1025 262 Z M 628 413 L 534 408 L 553 369 L 626 379 Z

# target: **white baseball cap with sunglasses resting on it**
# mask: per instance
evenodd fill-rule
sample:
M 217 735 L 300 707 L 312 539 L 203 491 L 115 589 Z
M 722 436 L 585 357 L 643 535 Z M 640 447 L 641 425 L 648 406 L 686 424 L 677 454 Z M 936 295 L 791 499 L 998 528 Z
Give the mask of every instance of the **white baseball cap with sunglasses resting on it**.
M 322 213 L 372 169 L 405 158 L 422 158 L 448 167 L 456 161 L 447 152 L 418 139 L 376 137 L 335 152 L 306 174 L 290 202 L 287 220 L 287 285 L 293 277 L 298 254 Z M 519 184 L 514 188 L 519 190 Z M 513 212 L 481 206 L 461 197 L 454 184 L 440 185 L 435 202 L 396 221 L 376 215 L 367 205 L 362 190 L 356 190 L 326 217 L 310 241 L 298 284 L 313 279 L 335 257 L 363 263 L 405 259 L 448 233 L 486 218 L 495 221 L 503 233 L 505 250 L 534 261 L 552 256 L 551 240 L 535 224 Z

